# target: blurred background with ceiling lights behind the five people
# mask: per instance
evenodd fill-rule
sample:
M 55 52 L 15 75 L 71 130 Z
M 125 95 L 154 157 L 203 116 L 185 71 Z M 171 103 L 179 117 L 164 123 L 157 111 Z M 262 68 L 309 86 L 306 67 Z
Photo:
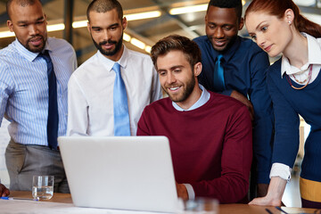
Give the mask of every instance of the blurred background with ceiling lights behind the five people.
M 96 52 L 86 29 L 86 7 L 90 2 L 91 0 L 42 0 L 48 19 L 49 37 L 68 40 L 76 50 L 79 65 Z M 152 45 L 170 34 L 189 38 L 205 35 L 204 17 L 209 0 L 119 0 L 119 2 L 128 19 L 124 43 L 130 49 L 148 54 Z M 250 3 L 251 1 L 243 0 L 243 12 Z M 300 12 L 309 20 L 321 24 L 321 0 L 294 0 L 294 3 L 299 5 Z M 6 26 L 8 15 L 5 12 L 5 4 L 6 0 L 0 0 L 0 49 L 15 39 Z M 248 37 L 245 27 L 239 35 Z M 276 59 L 270 61 L 275 62 Z M 9 185 L 4 162 L 4 151 L 9 142 L 7 125 L 8 121 L 4 119 L 0 128 L 0 178 L 4 184 Z M 292 170 L 292 181 L 284 193 L 283 201 L 287 206 L 300 206 L 298 175 L 300 161 L 304 155 L 303 145 L 308 135 L 309 126 L 301 119 L 300 152 Z

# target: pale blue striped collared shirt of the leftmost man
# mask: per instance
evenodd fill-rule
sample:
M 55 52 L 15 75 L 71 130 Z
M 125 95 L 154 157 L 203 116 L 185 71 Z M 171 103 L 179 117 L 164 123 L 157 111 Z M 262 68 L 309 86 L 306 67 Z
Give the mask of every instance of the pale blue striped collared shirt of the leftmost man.
M 67 129 L 67 84 L 77 68 L 76 53 L 66 41 L 48 37 L 49 51 L 57 78 L 58 136 Z M 20 144 L 47 145 L 48 77 L 45 59 L 29 52 L 16 39 L 0 50 L 0 119 L 11 123 L 9 135 Z

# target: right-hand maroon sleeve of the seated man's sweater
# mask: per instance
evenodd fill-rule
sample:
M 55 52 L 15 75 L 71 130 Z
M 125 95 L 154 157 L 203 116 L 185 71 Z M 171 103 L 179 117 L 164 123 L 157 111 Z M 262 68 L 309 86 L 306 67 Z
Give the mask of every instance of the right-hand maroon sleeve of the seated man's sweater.
M 251 119 L 246 107 L 231 114 L 221 156 L 220 177 L 192 182 L 197 197 L 240 202 L 248 192 L 252 159 Z

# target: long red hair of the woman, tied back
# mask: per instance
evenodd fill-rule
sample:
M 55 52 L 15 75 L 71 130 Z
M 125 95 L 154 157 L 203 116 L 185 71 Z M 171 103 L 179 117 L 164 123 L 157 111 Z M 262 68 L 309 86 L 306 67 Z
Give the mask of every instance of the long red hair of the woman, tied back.
M 313 37 L 321 37 L 321 26 L 302 16 L 299 7 L 292 0 L 253 0 L 245 11 L 245 19 L 250 12 L 267 12 L 282 19 L 287 9 L 292 9 L 294 12 L 293 24 L 299 32 L 308 33 Z

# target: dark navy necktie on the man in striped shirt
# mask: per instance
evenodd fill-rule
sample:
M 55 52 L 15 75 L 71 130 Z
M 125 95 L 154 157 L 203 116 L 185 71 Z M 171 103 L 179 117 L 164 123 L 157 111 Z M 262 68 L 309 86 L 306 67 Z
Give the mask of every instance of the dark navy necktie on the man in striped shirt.
M 47 120 L 47 140 L 51 149 L 57 150 L 58 137 L 58 103 L 57 103 L 57 80 L 53 71 L 53 62 L 47 50 L 45 53 L 39 53 L 39 56 L 45 59 L 47 63 L 48 86 L 49 86 L 49 103 L 48 103 L 48 120 Z

